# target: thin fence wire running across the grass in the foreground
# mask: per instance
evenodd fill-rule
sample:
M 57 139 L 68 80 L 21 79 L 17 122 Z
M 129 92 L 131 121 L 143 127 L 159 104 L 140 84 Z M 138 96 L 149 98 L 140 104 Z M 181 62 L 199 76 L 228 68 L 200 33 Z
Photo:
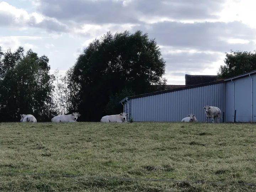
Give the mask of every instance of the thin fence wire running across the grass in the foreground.
M 154 178 L 129 178 L 129 177 L 105 177 L 105 176 L 83 176 L 83 175 L 61 175 L 61 174 L 42 174 L 42 173 L 25 173 L 25 172 L 0 172 L 1 175 L 44 175 L 58 177 L 81 177 L 81 178 L 97 178 L 97 179 L 116 179 L 116 180 L 139 180 L 139 181 L 169 181 L 169 182 L 187 182 L 187 183 L 205 183 L 217 185 L 250 185 L 256 186 L 256 183 L 230 183 L 230 182 L 214 182 L 214 181 L 187 181 L 174 179 L 154 179 Z

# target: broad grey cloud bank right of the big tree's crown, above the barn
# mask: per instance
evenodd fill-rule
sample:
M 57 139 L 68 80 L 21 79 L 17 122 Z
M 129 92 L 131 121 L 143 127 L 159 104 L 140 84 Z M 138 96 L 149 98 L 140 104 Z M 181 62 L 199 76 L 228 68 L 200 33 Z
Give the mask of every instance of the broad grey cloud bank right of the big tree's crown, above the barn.
M 150 38 L 163 46 L 191 48 L 202 51 L 229 52 L 233 50 L 252 50 L 255 48 L 255 30 L 242 22 L 204 22 L 179 23 L 161 22 L 147 26 L 134 27 L 133 31 L 147 32 Z M 248 44 L 229 44 L 224 39 L 239 38 L 250 41 Z

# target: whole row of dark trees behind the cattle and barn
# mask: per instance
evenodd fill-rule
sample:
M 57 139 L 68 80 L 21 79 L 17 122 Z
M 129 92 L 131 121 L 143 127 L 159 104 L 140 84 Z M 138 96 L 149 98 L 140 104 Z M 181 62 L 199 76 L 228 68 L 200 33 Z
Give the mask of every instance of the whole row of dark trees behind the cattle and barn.
M 218 75 L 255 70 L 255 59 L 251 52 L 226 53 Z M 160 48 L 142 31 L 108 32 L 95 39 L 64 76 L 58 71 L 50 75 L 48 63 L 46 55 L 39 57 L 31 49 L 3 53 L 0 47 L 0 122 L 17 122 L 20 114 L 44 122 L 72 112 L 81 114 L 78 121 L 98 122 L 106 114 L 122 112 L 119 101 L 124 97 L 164 90 L 166 85 Z

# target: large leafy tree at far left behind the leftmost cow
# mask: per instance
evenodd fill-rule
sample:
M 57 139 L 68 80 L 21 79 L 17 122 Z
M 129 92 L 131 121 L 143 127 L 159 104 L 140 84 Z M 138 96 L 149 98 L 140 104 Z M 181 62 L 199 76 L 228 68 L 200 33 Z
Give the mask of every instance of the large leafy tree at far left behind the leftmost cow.
M 24 55 L 19 47 L 9 49 L 0 62 L 0 121 L 17 121 L 20 114 L 33 114 L 38 121 L 56 115 L 53 101 L 54 76 L 49 75 L 49 59 L 31 49 Z

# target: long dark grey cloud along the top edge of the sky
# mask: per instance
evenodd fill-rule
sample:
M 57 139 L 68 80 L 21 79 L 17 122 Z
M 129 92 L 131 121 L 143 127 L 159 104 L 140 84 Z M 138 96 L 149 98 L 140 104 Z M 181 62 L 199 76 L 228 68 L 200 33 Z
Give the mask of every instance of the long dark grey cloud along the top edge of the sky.
M 38 11 L 60 21 L 87 23 L 140 23 L 141 16 L 172 19 L 217 18 L 223 0 L 133 0 L 127 6 L 113 0 L 40 0 Z

